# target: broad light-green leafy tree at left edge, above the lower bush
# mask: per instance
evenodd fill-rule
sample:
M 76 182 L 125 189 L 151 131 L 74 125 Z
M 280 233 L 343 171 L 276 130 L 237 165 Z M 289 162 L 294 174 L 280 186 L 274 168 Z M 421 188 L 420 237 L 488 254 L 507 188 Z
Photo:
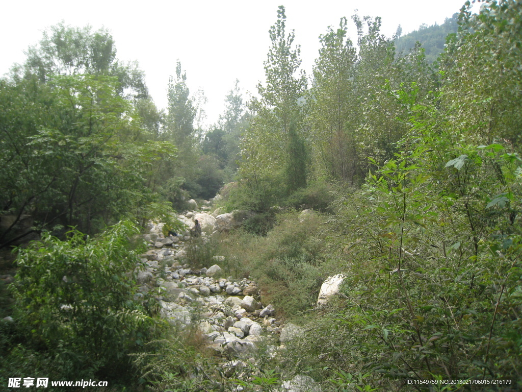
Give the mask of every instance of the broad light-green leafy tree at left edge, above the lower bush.
M 151 140 L 139 117 L 153 114 L 150 102 L 135 109 L 116 76 L 75 59 L 70 72 L 46 71 L 45 83 L 30 74 L 0 81 L 0 205 L 16 217 L 0 232 L 0 246 L 56 225 L 92 234 L 133 215 L 153 199 L 158 167 L 175 156 L 172 144 Z M 16 233 L 28 214 L 34 227 Z

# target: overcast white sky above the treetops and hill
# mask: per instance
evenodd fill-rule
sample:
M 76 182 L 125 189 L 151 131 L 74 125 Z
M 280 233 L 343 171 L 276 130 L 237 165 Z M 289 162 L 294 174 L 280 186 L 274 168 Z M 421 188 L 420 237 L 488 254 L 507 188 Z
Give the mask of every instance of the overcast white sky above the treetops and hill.
M 355 9 L 361 17 L 381 16 L 382 32 L 392 36 L 399 24 L 403 34 L 423 23 L 442 24 L 464 2 L 9 1 L 0 5 L 0 76 L 14 63 L 22 63 L 29 45 L 37 43 L 43 30 L 61 20 L 72 26 L 90 25 L 93 30 L 104 26 L 112 32 L 118 59 L 139 62 L 159 108 L 167 106 L 169 75 L 175 74 L 176 59 L 180 59 L 191 92 L 201 87 L 208 97 L 207 124 L 212 124 L 224 110 L 224 97 L 236 78 L 244 93 L 255 93 L 259 80 L 264 80 L 263 61 L 270 45 L 268 30 L 277 20 L 279 5 L 286 7 L 287 31 L 295 30 L 294 42 L 301 45 L 302 66 L 311 75 L 319 34 L 330 25 L 337 27 L 342 16 L 349 19 Z M 350 38 L 355 41 L 355 29 Z

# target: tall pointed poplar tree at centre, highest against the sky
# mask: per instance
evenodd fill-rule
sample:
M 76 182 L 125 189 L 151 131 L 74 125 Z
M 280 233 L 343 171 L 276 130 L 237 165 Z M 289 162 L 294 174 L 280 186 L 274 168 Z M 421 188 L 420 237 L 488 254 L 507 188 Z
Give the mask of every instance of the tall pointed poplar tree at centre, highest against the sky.
M 293 30 L 286 34 L 283 6 L 277 14 L 277 22 L 269 30 L 272 44 L 265 61 L 266 85 L 259 83 L 260 99 L 254 98 L 250 102 L 249 109 L 255 117 L 241 145 L 241 174 L 256 191 L 270 188 L 266 181 L 277 177 L 285 167 L 301 170 L 301 178 L 306 178 L 307 170 L 306 165 L 298 166 L 299 162 L 294 161 L 295 154 L 290 154 L 289 147 L 291 139 L 303 137 L 304 104 L 301 100 L 306 91 L 306 77 L 302 71 L 295 76 L 301 64 L 300 47 L 293 48 Z

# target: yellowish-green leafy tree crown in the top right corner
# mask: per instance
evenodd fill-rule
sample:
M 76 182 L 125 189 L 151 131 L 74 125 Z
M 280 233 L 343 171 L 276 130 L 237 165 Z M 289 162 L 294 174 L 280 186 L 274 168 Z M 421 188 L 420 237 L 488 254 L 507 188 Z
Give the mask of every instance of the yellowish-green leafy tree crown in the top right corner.
M 486 1 L 478 15 L 466 2 L 456 40 L 443 60 L 443 105 L 455 124 L 476 142 L 505 138 L 520 146 L 522 135 L 522 18 L 520 1 Z

